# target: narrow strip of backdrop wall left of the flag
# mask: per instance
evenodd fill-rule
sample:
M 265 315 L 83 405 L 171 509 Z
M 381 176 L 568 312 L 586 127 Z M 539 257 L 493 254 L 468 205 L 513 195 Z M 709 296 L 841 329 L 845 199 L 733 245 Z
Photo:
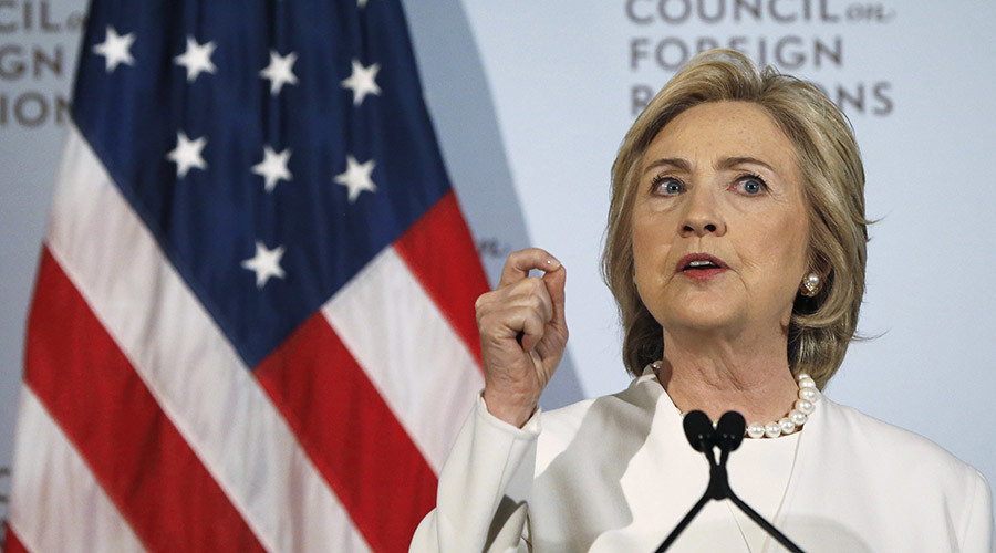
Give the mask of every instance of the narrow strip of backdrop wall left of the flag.
M 44 236 L 84 1 L 0 1 L 0 519 L 24 323 Z

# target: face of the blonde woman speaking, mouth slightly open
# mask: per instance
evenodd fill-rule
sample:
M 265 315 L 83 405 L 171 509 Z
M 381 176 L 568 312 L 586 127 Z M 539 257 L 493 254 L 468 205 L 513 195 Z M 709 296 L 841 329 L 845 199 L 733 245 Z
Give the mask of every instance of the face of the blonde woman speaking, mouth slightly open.
M 787 332 L 808 270 L 795 145 L 747 102 L 692 107 L 643 155 L 636 286 L 665 332 Z

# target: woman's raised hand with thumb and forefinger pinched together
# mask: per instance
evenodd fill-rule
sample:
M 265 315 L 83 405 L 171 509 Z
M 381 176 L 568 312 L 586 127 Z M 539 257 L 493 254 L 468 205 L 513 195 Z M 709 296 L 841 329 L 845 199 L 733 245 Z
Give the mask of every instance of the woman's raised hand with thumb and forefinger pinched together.
M 543 271 L 542 278 L 529 271 Z M 563 357 L 566 269 L 538 248 L 512 252 L 498 288 L 477 299 L 485 365 L 485 403 L 491 415 L 521 427 Z

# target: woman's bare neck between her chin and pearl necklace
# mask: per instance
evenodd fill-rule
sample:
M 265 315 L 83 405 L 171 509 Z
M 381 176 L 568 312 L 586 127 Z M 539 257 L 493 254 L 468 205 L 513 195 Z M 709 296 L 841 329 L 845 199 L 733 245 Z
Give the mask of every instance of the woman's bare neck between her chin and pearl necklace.
M 713 420 L 728 410 L 747 422 L 778 420 L 792 407 L 798 385 L 787 358 L 787 337 L 673 335 L 665 332 L 657 377 L 683 413 L 701 409 Z

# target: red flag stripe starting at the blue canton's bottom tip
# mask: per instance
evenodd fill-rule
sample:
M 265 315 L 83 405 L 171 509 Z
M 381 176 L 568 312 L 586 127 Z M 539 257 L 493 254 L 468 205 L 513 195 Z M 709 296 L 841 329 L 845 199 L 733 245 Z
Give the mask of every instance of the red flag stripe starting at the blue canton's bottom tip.
M 371 549 L 408 551 L 436 476 L 321 312 L 255 372 Z

